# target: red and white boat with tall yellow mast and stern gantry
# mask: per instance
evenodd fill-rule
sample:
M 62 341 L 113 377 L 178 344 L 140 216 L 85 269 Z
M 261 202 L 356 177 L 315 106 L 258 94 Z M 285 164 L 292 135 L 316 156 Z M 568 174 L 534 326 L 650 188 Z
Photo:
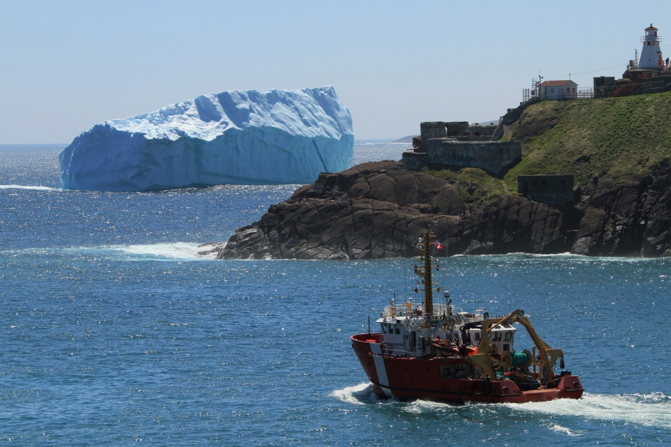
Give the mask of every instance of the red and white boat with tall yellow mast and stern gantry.
M 379 331 L 351 336 L 352 348 L 380 397 L 447 402 L 523 403 L 579 399 L 584 388 L 577 375 L 564 370 L 564 352 L 538 336 L 523 309 L 490 315 L 485 308 L 460 311 L 434 304 L 440 292 L 432 272 L 440 270 L 432 250 L 440 248 L 430 230 L 415 243 L 419 254 L 414 272 L 420 277 L 415 294 L 381 311 Z M 370 321 L 370 320 L 369 320 Z M 515 351 L 516 326 L 522 326 L 534 346 Z M 560 373 L 555 373 L 557 362 Z

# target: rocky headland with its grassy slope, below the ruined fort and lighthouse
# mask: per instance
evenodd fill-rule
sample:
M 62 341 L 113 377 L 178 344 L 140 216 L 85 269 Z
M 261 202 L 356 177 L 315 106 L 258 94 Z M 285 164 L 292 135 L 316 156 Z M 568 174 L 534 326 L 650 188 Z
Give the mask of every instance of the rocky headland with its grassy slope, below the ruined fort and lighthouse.
M 432 225 L 441 255 L 670 256 L 670 122 L 671 92 L 524 104 L 503 116 L 492 137 L 521 145 L 521 159 L 501 172 L 364 163 L 320 175 L 203 252 L 220 259 L 413 256 L 415 236 Z M 520 175 L 548 174 L 574 176 L 572 201 L 555 206 L 520 194 Z

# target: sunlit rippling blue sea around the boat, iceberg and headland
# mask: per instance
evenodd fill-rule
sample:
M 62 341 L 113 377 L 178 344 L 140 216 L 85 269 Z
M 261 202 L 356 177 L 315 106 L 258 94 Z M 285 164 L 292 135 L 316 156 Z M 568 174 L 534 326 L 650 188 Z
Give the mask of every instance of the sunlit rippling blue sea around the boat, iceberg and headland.
M 408 145 L 357 144 L 355 163 Z M 349 337 L 404 260 L 217 261 L 298 185 L 62 191 L 62 145 L 0 146 L 0 441 L 18 446 L 671 443 L 671 262 L 455 256 L 463 309 L 524 309 L 587 392 L 533 404 L 378 399 Z M 411 282 L 408 274 L 408 286 Z M 530 348 L 520 331 L 516 348 Z

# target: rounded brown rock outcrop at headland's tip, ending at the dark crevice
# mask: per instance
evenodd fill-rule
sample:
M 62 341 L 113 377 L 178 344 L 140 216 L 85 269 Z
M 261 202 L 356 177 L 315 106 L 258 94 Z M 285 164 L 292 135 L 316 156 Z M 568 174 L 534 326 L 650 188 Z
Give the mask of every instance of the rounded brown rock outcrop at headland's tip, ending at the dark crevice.
M 573 242 L 563 223 L 561 211 L 512 194 L 464 206 L 454 184 L 400 162 L 371 162 L 298 189 L 217 251 L 220 259 L 412 256 L 415 236 L 432 225 L 447 241 L 443 254 L 558 253 Z

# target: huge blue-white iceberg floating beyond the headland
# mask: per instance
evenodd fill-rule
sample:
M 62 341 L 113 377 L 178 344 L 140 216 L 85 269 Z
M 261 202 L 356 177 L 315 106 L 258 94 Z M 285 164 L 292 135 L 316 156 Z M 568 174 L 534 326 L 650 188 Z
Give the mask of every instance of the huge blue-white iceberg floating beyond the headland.
M 327 86 L 198 96 L 96 124 L 58 158 L 64 189 L 150 191 L 307 184 L 353 153 L 351 115 Z

